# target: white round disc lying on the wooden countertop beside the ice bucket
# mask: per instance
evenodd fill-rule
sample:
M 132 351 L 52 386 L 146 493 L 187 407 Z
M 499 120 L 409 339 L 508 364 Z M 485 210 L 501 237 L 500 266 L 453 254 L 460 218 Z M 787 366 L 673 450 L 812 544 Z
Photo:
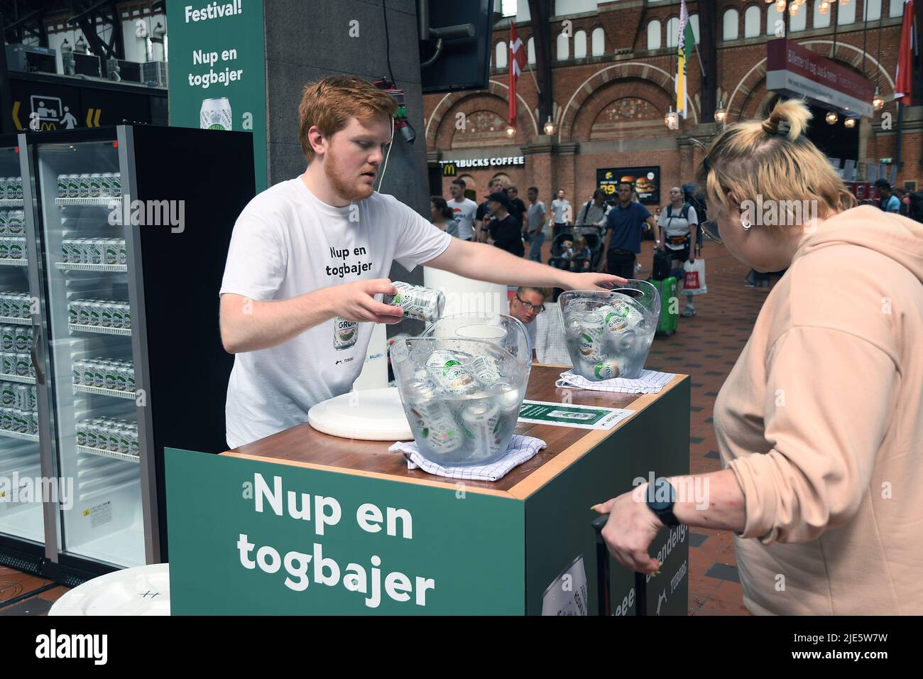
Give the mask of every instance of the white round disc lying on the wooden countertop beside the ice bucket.
M 367 389 L 334 396 L 307 411 L 318 431 L 343 439 L 413 441 L 397 387 Z

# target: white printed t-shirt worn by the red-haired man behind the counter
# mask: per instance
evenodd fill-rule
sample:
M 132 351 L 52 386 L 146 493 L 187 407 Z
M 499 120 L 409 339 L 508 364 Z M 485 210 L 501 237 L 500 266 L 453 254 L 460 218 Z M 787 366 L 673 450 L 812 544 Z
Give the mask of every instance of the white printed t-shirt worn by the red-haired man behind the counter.
M 387 278 L 392 261 L 411 271 L 450 242 L 449 234 L 392 196 L 373 193 L 336 208 L 296 177 L 260 193 L 237 218 L 220 294 L 289 299 L 330 285 Z M 282 345 L 234 356 L 225 406 L 229 446 L 306 422 L 308 408 L 350 391 L 374 323 L 359 323 L 355 344 L 337 349 L 335 321 Z

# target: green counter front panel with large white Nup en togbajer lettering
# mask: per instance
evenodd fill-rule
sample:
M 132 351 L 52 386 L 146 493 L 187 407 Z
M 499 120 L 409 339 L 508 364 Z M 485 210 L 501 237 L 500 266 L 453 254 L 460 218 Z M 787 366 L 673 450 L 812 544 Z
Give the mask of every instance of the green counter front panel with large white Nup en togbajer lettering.
M 512 499 L 166 449 L 173 614 L 516 614 Z

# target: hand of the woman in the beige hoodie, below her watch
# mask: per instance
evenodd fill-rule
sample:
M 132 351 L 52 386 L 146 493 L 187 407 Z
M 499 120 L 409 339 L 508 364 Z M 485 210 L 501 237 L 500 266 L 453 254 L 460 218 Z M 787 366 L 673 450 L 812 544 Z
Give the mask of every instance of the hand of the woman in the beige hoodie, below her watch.
M 659 573 L 661 564 L 647 551 L 664 524 L 643 501 L 647 486 L 645 483 L 634 491 L 593 505 L 593 510 L 609 515 L 603 539 L 616 561 L 631 571 L 653 576 Z

